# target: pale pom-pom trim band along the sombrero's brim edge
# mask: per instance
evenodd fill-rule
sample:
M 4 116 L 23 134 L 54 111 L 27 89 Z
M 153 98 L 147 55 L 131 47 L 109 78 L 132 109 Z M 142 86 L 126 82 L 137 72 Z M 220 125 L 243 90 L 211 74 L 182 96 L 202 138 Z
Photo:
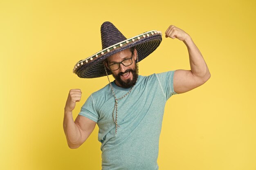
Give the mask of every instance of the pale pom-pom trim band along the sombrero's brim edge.
M 94 62 L 95 59 L 97 59 L 98 57 L 101 57 L 102 55 L 105 55 L 106 53 L 110 53 L 113 50 L 119 49 L 122 46 L 126 46 L 126 45 L 128 45 L 130 43 L 134 43 L 134 42 L 136 42 L 138 40 L 150 37 L 150 36 L 152 36 L 154 34 L 160 34 L 162 36 L 162 32 L 161 31 L 152 30 L 152 31 L 147 31 L 145 33 L 136 35 L 136 36 L 134 36 L 132 38 L 129 38 L 127 40 L 118 42 L 118 43 L 116 43 L 116 44 L 114 44 L 112 46 L 109 46 L 109 47 L 107 47 L 107 48 L 105 48 L 105 49 L 95 53 L 94 55 L 91 55 L 90 57 L 87 57 L 84 60 L 80 60 L 79 62 L 77 62 L 76 65 L 73 68 L 73 73 L 75 73 L 76 69 L 81 67 L 83 64 L 89 64 L 91 62 Z

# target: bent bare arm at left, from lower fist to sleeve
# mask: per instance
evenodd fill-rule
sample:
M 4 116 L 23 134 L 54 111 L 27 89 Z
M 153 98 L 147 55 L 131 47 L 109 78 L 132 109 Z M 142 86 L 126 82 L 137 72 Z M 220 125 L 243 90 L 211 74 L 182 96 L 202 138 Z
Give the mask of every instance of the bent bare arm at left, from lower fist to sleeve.
M 81 146 L 96 125 L 95 121 L 81 115 L 78 115 L 75 121 L 73 120 L 72 110 L 74 110 L 76 102 L 80 102 L 81 93 L 80 89 L 70 90 L 64 109 L 63 129 L 67 144 L 72 149 Z

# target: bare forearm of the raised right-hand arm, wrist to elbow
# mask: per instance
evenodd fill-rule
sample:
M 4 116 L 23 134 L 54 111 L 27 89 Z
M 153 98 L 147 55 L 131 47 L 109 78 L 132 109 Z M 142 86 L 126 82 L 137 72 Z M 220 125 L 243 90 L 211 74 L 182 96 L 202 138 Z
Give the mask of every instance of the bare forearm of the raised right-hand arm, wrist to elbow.
M 192 38 L 188 36 L 183 42 L 189 51 L 189 63 L 192 74 L 202 79 L 208 79 L 210 77 L 208 66 Z

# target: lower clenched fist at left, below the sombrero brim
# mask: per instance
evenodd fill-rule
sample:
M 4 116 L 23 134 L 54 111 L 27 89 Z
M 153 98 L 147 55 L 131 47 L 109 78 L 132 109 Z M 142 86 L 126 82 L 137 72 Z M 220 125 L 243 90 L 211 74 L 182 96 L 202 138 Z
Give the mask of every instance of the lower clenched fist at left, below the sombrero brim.
M 72 111 L 76 106 L 76 102 L 80 102 L 82 92 L 80 89 L 71 89 L 67 96 L 65 111 Z

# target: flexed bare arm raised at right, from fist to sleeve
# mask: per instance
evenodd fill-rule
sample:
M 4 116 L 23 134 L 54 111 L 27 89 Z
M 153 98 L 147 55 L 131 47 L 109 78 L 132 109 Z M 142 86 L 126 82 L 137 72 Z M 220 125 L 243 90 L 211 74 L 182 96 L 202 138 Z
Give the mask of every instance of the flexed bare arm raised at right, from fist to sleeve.
M 183 41 L 189 51 L 189 63 L 191 70 L 176 70 L 174 72 L 174 91 L 178 94 L 185 93 L 204 84 L 211 77 L 211 74 L 202 54 L 189 34 L 174 25 L 169 26 L 165 34 L 166 38 L 177 38 Z

